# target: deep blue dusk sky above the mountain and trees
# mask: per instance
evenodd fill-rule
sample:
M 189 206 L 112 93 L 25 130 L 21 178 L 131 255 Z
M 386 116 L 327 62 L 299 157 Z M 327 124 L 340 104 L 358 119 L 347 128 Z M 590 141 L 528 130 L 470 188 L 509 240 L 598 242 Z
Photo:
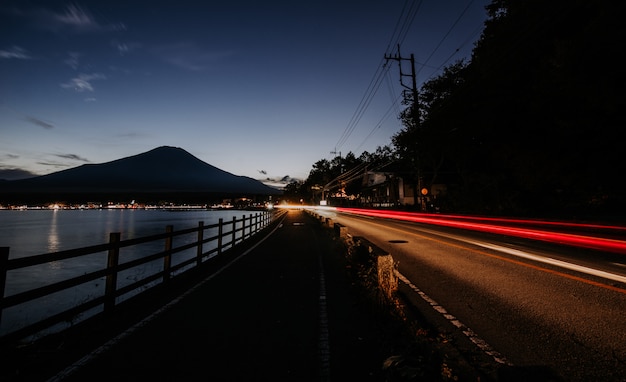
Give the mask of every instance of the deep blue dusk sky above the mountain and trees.
M 385 56 L 433 78 L 470 56 L 487 3 L 2 0 L 0 179 L 159 146 L 306 179 L 390 145 L 410 78 Z

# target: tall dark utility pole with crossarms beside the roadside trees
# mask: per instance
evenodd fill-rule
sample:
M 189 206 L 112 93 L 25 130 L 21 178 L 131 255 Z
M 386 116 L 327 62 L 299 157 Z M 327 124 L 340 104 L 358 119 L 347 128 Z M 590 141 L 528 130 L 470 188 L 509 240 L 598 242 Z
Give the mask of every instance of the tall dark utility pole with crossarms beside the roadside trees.
M 413 128 L 416 129 L 416 132 L 419 134 L 420 114 L 419 114 L 419 102 L 418 102 L 419 100 L 418 100 L 418 93 L 417 93 L 417 75 L 415 73 L 415 56 L 413 55 L 413 53 L 411 53 L 411 56 L 409 58 L 402 57 L 402 55 L 400 54 L 400 44 L 398 44 L 398 52 L 393 56 L 385 54 L 385 59 L 387 61 L 389 60 L 398 61 L 398 66 L 400 67 L 400 85 L 402 85 L 402 87 L 406 89 L 404 92 L 406 92 L 407 90 L 411 91 L 411 95 L 413 98 L 413 104 L 411 105 L 411 120 L 414 124 Z M 402 61 L 410 61 L 411 74 L 406 74 L 402 71 Z M 403 80 L 404 77 L 411 77 L 411 86 L 406 85 L 404 83 L 404 80 Z M 403 92 L 403 95 L 404 95 L 404 99 L 406 100 L 407 97 L 406 97 L 406 93 L 404 92 Z M 415 171 L 417 175 L 417 184 L 413 183 L 413 200 L 414 200 L 414 203 L 419 206 L 420 211 L 425 211 L 426 203 L 424 200 L 425 194 L 422 194 L 422 189 L 423 189 L 422 166 L 419 160 L 419 142 L 417 142 L 417 144 L 418 144 L 417 153 L 415 154 L 416 157 L 414 158 L 414 160 L 417 162 L 417 164 L 415 165 Z

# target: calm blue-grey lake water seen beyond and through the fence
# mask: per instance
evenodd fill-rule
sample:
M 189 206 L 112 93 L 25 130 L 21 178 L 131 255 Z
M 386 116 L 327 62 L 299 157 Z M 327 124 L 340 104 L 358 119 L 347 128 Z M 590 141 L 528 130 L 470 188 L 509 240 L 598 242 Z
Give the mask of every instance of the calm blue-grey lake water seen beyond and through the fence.
M 233 217 L 241 219 L 250 214 L 250 211 L 238 210 L 4 210 L 0 211 L 0 247 L 10 247 L 9 258 L 18 258 L 108 243 L 109 234 L 112 232 L 120 232 L 121 239 L 126 240 L 163 233 L 167 225 L 173 225 L 174 230 L 182 230 L 197 227 L 200 221 L 208 226 L 218 223 L 220 218 L 224 222 L 229 222 Z M 216 233 L 216 229 L 213 232 L 209 230 L 205 232 L 204 237 Z M 174 245 L 190 243 L 196 238 L 195 234 L 177 236 L 174 238 Z M 156 253 L 163 248 L 164 243 L 160 242 L 122 248 L 120 262 Z M 204 250 L 210 248 L 211 243 L 208 243 Z M 173 264 L 194 255 L 195 249 L 177 254 Z M 13 295 L 105 266 L 106 253 L 97 253 L 11 271 L 7 274 L 5 295 Z M 158 272 L 161 267 L 162 260 L 148 263 L 144 269 L 131 269 L 126 273 L 120 273 L 118 288 L 142 278 L 145 274 Z M 5 309 L 2 313 L 0 335 L 103 293 L 104 280 L 97 280 L 95 283 L 84 284 L 29 304 Z

